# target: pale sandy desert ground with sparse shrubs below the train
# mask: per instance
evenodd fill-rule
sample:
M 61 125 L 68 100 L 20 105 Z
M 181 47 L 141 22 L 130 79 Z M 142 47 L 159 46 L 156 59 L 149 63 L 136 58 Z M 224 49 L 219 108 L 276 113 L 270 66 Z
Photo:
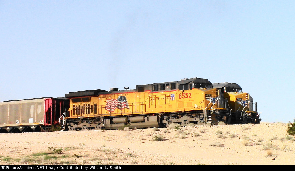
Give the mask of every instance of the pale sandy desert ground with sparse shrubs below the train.
M 1 133 L 0 165 L 295 165 L 286 123 Z

